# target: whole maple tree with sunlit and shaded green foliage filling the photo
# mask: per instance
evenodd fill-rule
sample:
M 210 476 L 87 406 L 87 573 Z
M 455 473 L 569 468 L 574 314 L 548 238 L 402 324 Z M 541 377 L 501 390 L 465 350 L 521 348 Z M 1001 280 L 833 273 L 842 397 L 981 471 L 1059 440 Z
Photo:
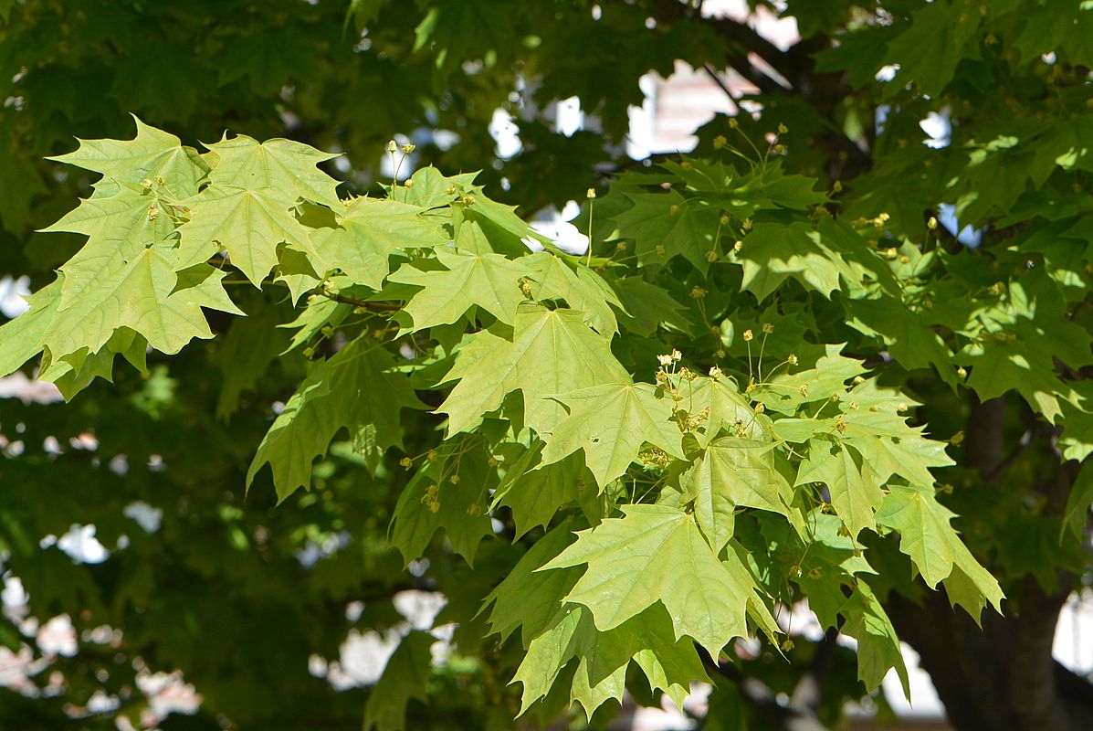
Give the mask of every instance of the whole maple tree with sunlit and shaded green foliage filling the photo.
M 35 154 L 2 151 L 32 183 L 0 216 L 11 239 L 42 233 L 5 252 L 36 286 L 0 326 L 0 372 L 71 403 L 4 403 L 0 427 L 21 444 L 92 429 L 101 454 L 166 467 L 75 445 L 0 465 L 49 486 L 49 510 L 33 487 L 0 507 L 31 611 L 121 629 L 52 659 L 67 692 L 5 694 L 3 712 L 109 728 L 152 665 L 204 694 L 196 722 L 240 728 L 345 723 L 362 701 L 381 730 L 595 727 L 624 691 L 682 704 L 695 681 L 716 684 L 705 728 L 781 728 L 835 723 L 893 670 L 906 692 L 904 640 L 959 728 L 1083 728 L 1088 684 L 1050 654 L 1093 502 L 1082 3 L 1061 22 L 1020 0 L 789 2 L 788 50 L 675 0 L 285 2 L 268 34 L 198 4 L 141 19 L 166 28 L 154 50 L 130 25 L 153 11 L 7 10 L 24 95 L 0 123 Z M 637 33 L 625 63 L 598 56 Z M 50 109 L 43 84 L 122 40 L 126 65 L 81 66 Z M 148 83 L 133 59 L 153 57 L 178 76 Z M 677 59 L 733 68 L 762 111 L 597 182 L 638 77 Z M 104 74 L 116 108 L 87 111 Z M 527 148 L 489 165 L 484 123 L 528 78 L 528 100 L 576 94 L 601 130 L 531 112 Z M 920 143 L 928 114 L 945 144 Z M 392 166 L 422 164 L 372 184 L 379 140 L 424 125 L 466 139 L 392 142 Z M 572 198 L 586 254 L 517 214 Z M 136 499 L 167 509 L 160 531 L 134 535 Z M 73 521 L 117 546 L 107 561 L 39 545 Z M 400 624 L 410 589 L 446 597 L 433 625 Z M 816 641 L 794 628 L 804 601 Z M 434 663 L 423 630 L 445 625 Z M 350 626 L 402 635 L 360 695 L 307 666 Z M 96 691 L 116 706 L 87 710 Z

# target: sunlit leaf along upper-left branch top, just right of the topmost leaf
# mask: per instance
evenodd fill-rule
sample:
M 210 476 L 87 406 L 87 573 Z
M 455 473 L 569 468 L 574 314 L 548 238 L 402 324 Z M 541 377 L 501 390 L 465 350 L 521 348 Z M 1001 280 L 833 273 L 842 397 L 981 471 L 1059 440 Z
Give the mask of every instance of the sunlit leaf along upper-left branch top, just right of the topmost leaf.
M 333 160 L 337 154 L 282 138 L 258 142 L 246 135 L 207 144 L 212 170 L 209 181 L 214 187 L 245 190 L 271 188 L 290 205 L 297 198 L 314 200 L 338 210 L 338 181 L 316 167 Z

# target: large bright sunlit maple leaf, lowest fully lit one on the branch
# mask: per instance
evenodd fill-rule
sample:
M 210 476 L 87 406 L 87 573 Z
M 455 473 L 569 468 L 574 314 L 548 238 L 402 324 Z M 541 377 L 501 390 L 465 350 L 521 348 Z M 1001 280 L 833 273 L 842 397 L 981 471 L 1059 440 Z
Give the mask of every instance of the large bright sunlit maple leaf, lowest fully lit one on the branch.
M 625 518 L 578 533 L 541 569 L 588 564 L 566 601 L 591 610 L 598 629 L 618 627 L 659 601 L 677 638 L 687 635 L 717 657 L 730 639 L 747 635 L 749 611 L 768 617 L 748 568 L 734 552 L 718 560 L 691 515 L 650 504 L 622 511 Z

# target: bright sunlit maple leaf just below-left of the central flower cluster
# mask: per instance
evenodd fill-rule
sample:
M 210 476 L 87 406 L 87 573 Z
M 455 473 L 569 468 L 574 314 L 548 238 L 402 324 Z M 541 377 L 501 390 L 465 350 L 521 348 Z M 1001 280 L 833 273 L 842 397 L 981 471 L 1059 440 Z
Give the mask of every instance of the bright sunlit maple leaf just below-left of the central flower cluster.
M 648 442 L 683 459 L 673 402 L 648 383 L 609 383 L 554 396 L 568 409 L 549 433 L 543 462 L 550 464 L 578 450 L 600 488 L 626 473 Z

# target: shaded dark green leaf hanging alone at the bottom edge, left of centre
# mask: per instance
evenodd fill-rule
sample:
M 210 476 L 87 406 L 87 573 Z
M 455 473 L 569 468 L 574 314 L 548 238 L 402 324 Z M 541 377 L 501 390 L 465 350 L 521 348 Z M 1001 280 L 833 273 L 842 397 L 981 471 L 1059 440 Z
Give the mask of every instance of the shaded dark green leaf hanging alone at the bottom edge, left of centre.
M 364 706 L 364 731 L 403 731 L 407 728 L 407 704 L 411 698 L 428 698 L 426 685 L 433 674 L 431 648 L 435 641 L 428 633 L 416 630 L 402 638 L 379 682 L 368 694 L 368 703 Z

